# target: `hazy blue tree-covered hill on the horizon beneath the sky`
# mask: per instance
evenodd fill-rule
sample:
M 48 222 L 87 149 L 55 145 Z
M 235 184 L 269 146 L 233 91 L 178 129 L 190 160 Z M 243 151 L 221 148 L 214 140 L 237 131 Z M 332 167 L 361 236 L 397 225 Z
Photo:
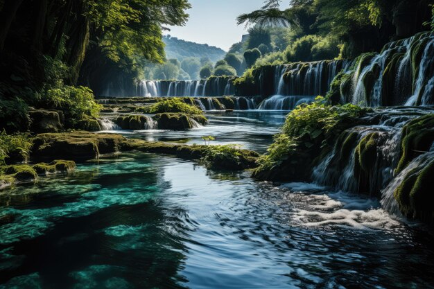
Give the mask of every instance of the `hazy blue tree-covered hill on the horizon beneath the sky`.
M 217 62 L 225 57 L 226 52 L 216 46 L 209 46 L 208 44 L 198 44 L 185 40 L 177 39 L 166 35 L 163 37 L 166 43 L 166 58 L 176 58 L 177 60 L 184 60 L 184 58 L 209 58 L 212 62 Z

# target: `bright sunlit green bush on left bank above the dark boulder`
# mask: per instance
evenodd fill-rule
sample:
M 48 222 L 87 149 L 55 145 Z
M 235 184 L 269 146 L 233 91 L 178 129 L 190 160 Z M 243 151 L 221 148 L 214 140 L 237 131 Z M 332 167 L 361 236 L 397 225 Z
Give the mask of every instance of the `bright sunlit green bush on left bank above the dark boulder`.
M 67 114 L 74 121 L 97 117 L 101 105 L 96 103 L 94 94 L 88 87 L 73 87 L 58 82 L 53 87 L 48 87 L 39 94 L 40 103 L 55 107 Z

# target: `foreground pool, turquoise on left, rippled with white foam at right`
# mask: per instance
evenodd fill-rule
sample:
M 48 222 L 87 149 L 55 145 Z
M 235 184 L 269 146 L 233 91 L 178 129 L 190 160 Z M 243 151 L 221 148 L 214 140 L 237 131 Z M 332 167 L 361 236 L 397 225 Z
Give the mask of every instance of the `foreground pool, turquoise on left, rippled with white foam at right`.
M 3 193 L 0 207 L 0 288 L 434 284 L 432 236 L 378 200 L 173 157 L 82 164 Z

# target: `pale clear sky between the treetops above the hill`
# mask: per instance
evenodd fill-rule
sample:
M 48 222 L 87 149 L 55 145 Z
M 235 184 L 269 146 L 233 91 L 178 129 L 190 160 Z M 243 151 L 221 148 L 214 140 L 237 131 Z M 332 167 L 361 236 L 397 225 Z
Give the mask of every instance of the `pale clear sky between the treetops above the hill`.
M 217 46 L 225 51 L 247 31 L 236 25 L 236 17 L 258 10 L 264 0 L 189 0 L 192 8 L 186 26 L 171 27 L 165 34 L 182 40 Z

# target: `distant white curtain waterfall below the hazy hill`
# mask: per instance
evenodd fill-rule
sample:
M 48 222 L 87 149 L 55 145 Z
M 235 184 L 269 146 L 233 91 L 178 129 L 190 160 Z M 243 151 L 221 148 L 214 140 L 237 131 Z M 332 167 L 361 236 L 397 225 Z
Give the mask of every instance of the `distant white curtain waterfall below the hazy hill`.
M 135 96 L 229 96 L 235 94 L 234 77 L 211 77 L 207 80 L 142 80 Z

